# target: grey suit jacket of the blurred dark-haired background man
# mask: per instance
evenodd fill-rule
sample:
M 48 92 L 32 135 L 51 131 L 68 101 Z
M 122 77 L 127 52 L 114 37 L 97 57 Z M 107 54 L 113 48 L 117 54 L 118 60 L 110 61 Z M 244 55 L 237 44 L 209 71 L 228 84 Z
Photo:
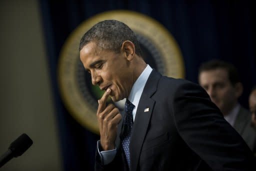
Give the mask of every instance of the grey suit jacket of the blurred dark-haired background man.
M 245 108 L 240 107 L 233 127 L 242 136 L 253 153 L 256 154 L 256 130 L 250 123 L 251 113 Z

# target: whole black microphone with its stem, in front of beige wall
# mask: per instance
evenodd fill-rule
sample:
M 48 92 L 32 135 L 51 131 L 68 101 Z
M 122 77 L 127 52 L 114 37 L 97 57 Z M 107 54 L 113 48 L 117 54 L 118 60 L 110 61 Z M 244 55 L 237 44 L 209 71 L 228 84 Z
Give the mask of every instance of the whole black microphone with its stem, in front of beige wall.
M 23 152 L 25 152 L 32 145 L 32 143 L 33 141 L 29 138 L 29 136 L 27 136 L 27 134 L 21 134 L 10 144 L 8 150 L 0 156 L 0 167 L 3 166 L 11 158 L 23 154 Z

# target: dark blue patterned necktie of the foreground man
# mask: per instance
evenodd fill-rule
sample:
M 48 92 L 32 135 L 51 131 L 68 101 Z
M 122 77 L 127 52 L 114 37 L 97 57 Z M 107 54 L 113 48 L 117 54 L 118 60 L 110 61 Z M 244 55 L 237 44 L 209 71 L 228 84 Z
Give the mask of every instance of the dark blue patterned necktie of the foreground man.
M 132 117 L 132 110 L 134 108 L 134 105 L 126 99 L 125 105 L 124 105 L 124 121 L 123 121 L 123 138 L 122 138 L 122 148 L 124 150 L 126 160 L 128 163 L 128 166 L 130 166 L 130 152 L 129 152 L 129 143 L 130 143 L 130 134 L 131 134 L 131 128 L 133 123 L 133 117 Z

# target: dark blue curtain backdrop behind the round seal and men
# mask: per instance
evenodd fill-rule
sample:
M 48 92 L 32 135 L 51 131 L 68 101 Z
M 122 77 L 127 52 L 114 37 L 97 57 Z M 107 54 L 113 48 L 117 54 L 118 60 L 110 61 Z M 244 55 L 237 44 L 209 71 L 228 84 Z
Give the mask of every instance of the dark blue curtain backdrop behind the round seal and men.
M 233 63 L 244 85 L 239 101 L 248 106 L 249 91 L 256 84 L 252 0 L 40 0 L 40 9 L 64 170 L 93 170 L 99 137 L 79 125 L 60 99 L 56 79 L 59 51 L 70 32 L 97 13 L 127 9 L 158 20 L 176 39 L 188 80 L 197 82 L 197 69 L 203 61 L 218 58 Z

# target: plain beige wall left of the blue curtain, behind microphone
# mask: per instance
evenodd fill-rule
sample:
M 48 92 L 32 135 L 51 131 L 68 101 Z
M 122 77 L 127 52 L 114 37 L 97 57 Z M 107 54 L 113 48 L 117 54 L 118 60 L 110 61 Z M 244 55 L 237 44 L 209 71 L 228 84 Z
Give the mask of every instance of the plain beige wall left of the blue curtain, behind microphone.
M 62 170 L 37 0 L 0 0 L 0 155 L 21 133 L 33 145 L 0 170 Z

